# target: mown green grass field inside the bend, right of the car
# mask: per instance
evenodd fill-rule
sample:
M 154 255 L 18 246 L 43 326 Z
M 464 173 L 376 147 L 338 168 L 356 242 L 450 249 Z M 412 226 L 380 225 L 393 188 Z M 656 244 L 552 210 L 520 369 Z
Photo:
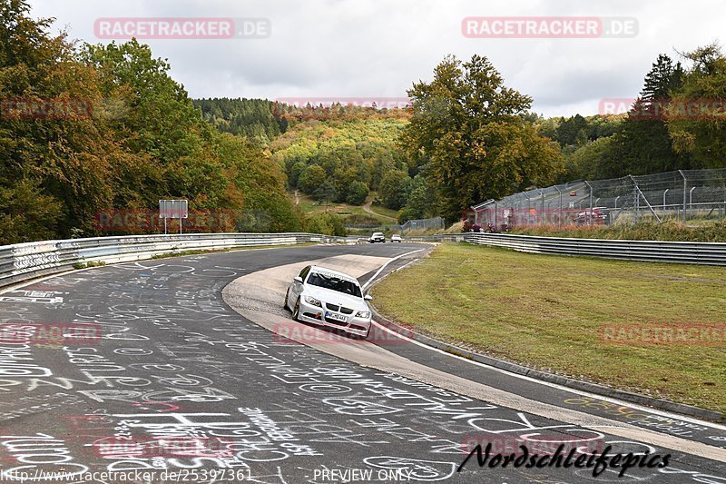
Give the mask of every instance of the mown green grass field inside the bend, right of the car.
M 373 295 L 393 320 L 469 350 L 726 412 L 723 339 L 626 346 L 599 337 L 609 324 L 723 325 L 724 268 L 446 243 Z

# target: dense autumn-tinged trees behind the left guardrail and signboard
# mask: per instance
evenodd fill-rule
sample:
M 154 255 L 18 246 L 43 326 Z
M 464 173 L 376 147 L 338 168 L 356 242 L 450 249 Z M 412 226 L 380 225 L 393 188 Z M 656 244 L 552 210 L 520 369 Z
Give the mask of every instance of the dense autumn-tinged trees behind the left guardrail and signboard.
M 103 234 L 99 213 L 162 198 L 231 212 L 233 230 L 303 228 L 280 166 L 205 123 L 148 46 L 74 44 L 29 12 L 0 4 L 0 244 Z

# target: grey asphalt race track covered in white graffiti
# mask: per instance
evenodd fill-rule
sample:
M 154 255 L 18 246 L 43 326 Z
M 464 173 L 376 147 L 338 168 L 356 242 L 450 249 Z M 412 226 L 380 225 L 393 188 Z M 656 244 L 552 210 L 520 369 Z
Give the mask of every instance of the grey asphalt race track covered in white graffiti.
M 367 281 L 374 266 L 426 248 L 386 243 L 194 255 L 73 272 L 0 294 L 0 320 L 16 328 L 15 337 L 0 339 L 0 481 L 726 483 L 722 429 L 676 436 L 626 428 L 623 415 L 602 406 L 566 408 L 559 390 L 413 343 L 388 341 L 388 348 L 331 338 L 308 345 L 294 341 L 302 333 L 282 337 L 266 325 L 289 331 L 298 323 L 288 321 L 281 298 L 275 308 L 235 308 L 255 321 L 222 300 L 231 282 L 246 282 L 250 293 L 259 284 L 263 298 L 261 282 L 281 266 L 359 260 L 355 275 Z M 87 336 L 54 338 L 53 328 L 63 325 Z M 34 337 L 19 339 L 22 331 Z M 476 397 L 464 393 L 469 380 Z M 578 423 L 545 417 L 559 415 L 546 413 L 552 409 L 564 419 L 579 416 Z M 597 477 L 593 468 L 479 468 L 476 457 L 456 471 L 478 442 L 514 449 L 508 446 L 522 441 L 532 449 L 554 442 L 670 458 L 664 468 L 635 466 L 623 477 L 613 468 Z

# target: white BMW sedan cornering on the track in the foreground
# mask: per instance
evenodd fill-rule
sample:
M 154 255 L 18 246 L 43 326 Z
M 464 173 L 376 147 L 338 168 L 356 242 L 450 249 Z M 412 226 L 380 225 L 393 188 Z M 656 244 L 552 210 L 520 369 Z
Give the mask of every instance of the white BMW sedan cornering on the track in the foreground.
M 338 328 L 366 338 L 370 331 L 370 296 L 363 297 L 356 278 L 316 265 L 295 277 L 285 295 L 285 307 L 295 321 Z

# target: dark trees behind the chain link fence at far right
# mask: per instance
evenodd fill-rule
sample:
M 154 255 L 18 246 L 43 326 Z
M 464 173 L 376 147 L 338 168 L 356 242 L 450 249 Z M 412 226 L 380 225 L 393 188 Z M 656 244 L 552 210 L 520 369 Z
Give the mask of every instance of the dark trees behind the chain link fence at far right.
M 558 182 L 726 167 L 726 57 L 717 44 L 682 57 L 688 67 L 658 56 L 627 114 L 537 122 L 562 147 Z M 693 107 L 700 111 L 684 115 Z

